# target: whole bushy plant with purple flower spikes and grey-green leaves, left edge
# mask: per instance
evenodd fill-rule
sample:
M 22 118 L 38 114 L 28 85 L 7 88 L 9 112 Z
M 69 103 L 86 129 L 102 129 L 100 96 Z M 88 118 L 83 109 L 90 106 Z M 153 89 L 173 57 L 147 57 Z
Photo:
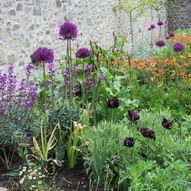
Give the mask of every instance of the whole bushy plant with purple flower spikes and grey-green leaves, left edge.
M 0 160 L 7 169 L 34 123 L 33 108 L 37 101 L 37 84 L 30 82 L 32 65 L 26 68 L 26 78 L 18 82 L 14 66 L 8 74 L 0 73 Z

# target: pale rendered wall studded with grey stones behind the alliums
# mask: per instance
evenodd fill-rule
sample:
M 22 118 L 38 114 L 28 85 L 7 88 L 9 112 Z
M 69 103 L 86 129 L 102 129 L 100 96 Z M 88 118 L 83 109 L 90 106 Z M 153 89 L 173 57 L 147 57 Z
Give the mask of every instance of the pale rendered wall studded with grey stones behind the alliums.
M 108 47 L 113 43 L 113 32 L 128 37 L 129 20 L 125 13 L 114 13 L 118 0 L 0 0 L 0 68 L 15 64 L 18 72 L 30 61 L 30 55 L 39 46 L 54 49 L 58 59 L 65 42 L 59 40 L 59 26 L 66 17 L 78 25 L 79 36 L 75 46 L 88 45 L 89 40 Z M 162 14 L 165 20 L 165 12 Z M 135 22 L 135 39 L 150 39 L 147 30 L 152 17 L 150 11 Z M 155 33 L 158 34 L 158 29 Z

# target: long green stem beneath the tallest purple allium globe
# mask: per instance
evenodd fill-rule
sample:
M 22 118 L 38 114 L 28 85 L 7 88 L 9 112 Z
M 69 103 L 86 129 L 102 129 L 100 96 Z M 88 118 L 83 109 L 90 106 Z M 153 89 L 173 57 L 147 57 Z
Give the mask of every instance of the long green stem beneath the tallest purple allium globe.
M 67 39 L 67 63 L 69 68 L 69 118 L 70 118 L 70 129 L 72 130 L 72 55 L 71 55 L 71 40 Z

